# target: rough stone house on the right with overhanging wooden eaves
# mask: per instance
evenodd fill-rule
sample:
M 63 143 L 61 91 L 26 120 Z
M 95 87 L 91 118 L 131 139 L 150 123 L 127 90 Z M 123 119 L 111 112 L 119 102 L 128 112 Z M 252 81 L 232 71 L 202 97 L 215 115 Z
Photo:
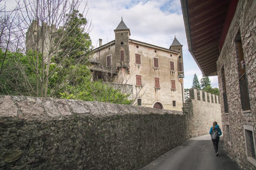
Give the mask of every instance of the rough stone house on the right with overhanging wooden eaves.
M 224 149 L 256 169 L 256 1 L 181 0 L 188 47 L 205 76 L 218 75 Z

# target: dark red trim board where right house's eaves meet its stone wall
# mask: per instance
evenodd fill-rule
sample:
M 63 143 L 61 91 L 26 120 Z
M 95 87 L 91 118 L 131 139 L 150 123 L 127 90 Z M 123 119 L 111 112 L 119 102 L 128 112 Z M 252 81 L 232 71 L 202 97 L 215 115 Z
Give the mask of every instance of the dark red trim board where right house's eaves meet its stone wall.
M 224 42 L 225 42 L 225 39 L 226 39 L 226 36 L 227 36 L 227 33 L 228 33 L 228 29 L 229 29 L 229 26 L 232 22 L 232 19 L 235 15 L 235 12 L 236 12 L 236 6 L 238 4 L 238 1 L 239 0 L 231 0 L 230 1 L 230 5 L 229 5 L 229 9 L 228 9 L 228 12 L 227 12 L 227 16 L 226 16 L 226 20 L 225 20 L 225 24 L 223 26 L 223 29 L 222 29 L 222 32 L 221 32 L 221 35 L 220 35 L 220 51 L 224 45 Z

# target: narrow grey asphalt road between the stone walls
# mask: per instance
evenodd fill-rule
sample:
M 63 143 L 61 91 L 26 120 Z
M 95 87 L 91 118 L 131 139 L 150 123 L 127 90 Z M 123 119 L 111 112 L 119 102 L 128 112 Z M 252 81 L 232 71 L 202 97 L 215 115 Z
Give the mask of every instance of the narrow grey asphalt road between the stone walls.
M 242 170 L 223 150 L 220 137 L 219 156 L 215 156 L 210 135 L 190 138 L 160 156 L 141 170 Z

